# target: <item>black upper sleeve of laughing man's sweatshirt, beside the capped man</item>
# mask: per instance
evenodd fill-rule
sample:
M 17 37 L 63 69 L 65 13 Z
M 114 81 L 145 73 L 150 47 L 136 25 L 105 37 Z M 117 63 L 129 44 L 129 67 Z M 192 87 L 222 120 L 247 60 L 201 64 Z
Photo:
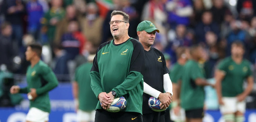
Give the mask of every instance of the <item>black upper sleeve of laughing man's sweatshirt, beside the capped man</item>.
M 135 39 L 132 39 L 133 52 L 131 56 L 130 70 L 140 72 L 144 76 L 145 69 L 145 52 L 141 43 Z

